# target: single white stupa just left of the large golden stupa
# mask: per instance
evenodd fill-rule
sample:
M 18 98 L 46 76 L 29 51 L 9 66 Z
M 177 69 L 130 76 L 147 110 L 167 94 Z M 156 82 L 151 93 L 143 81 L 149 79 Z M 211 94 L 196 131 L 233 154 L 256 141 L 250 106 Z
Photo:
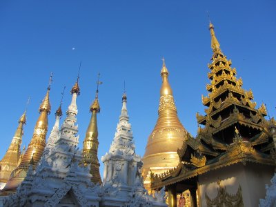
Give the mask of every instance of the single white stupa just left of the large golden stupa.
M 101 157 L 104 164 L 103 192 L 101 206 L 167 206 L 165 193 L 148 195 L 141 177 L 141 157 L 135 153 L 131 125 L 128 122 L 126 93 L 115 137 L 106 155 Z

